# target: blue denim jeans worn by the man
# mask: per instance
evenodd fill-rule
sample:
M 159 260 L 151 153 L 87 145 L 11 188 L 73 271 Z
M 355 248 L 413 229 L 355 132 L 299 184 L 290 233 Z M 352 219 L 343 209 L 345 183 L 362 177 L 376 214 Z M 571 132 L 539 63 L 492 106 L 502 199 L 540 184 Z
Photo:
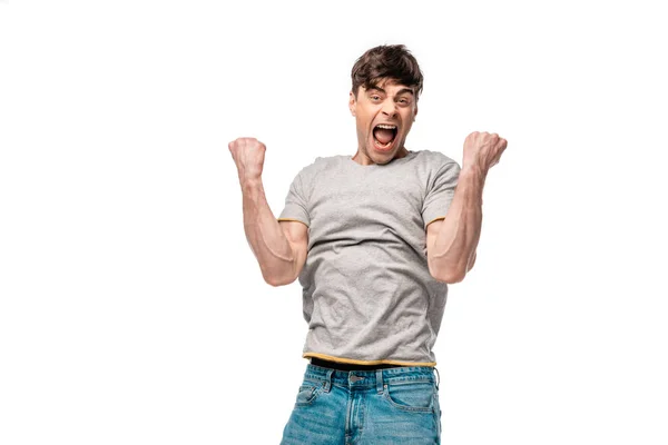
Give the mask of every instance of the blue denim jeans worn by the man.
M 434 368 L 337 370 L 308 364 L 282 445 L 440 444 Z

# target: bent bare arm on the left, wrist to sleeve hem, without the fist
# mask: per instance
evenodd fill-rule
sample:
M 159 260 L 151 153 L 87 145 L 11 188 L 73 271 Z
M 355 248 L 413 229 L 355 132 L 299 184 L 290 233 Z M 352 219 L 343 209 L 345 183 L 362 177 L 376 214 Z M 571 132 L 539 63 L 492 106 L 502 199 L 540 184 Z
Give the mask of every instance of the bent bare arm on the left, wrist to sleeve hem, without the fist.
M 306 226 L 276 220 L 267 204 L 262 179 L 244 182 L 242 192 L 246 239 L 264 280 L 272 286 L 293 283 L 306 260 Z

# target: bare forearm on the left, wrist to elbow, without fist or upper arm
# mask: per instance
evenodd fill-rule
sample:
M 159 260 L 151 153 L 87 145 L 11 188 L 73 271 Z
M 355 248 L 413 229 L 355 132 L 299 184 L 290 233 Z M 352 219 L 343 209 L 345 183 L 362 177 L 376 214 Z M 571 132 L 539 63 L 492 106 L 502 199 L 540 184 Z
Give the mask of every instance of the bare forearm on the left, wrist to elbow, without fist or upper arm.
M 262 179 L 242 184 L 244 230 L 268 284 L 277 285 L 295 270 L 295 255 L 281 224 L 274 217 L 264 192 Z

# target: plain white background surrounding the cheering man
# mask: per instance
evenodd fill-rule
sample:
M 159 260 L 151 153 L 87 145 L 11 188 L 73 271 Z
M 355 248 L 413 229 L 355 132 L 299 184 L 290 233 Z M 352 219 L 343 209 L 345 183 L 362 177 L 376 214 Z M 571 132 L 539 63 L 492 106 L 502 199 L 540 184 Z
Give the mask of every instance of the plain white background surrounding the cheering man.
M 410 149 L 509 141 L 435 346 L 443 443 L 668 443 L 661 2 L 2 3 L 0 443 L 279 442 L 301 287 L 263 281 L 227 142 L 267 145 L 277 215 L 355 152 L 381 43 L 425 76 Z

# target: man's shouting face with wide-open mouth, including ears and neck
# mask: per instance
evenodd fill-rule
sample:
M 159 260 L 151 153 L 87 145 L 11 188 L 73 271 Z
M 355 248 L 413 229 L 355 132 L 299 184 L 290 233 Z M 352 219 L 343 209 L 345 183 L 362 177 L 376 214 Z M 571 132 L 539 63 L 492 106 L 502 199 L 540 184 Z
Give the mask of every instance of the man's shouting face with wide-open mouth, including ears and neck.
M 357 162 L 387 164 L 407 154 L 404 142 L 418 115 L 412 88 L 393 80 L 360 87 L 357 97 L 351 92 L 348 105 L 357 125 Z

